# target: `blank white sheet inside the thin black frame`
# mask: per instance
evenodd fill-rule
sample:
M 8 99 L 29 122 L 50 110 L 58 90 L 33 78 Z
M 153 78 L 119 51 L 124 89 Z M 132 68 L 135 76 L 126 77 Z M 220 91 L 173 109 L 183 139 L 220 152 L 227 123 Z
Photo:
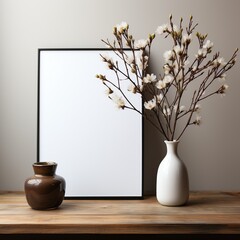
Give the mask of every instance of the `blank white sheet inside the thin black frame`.
M 39 51 L 39 161 L 54 161 L 67 197 L 142 196 L 142 116 L 117 109 L 96 74 L 110 50 Z M 133 94 L 132 94 L 133 95 Z M 141 109 L 140 96 L 131 101 Z

